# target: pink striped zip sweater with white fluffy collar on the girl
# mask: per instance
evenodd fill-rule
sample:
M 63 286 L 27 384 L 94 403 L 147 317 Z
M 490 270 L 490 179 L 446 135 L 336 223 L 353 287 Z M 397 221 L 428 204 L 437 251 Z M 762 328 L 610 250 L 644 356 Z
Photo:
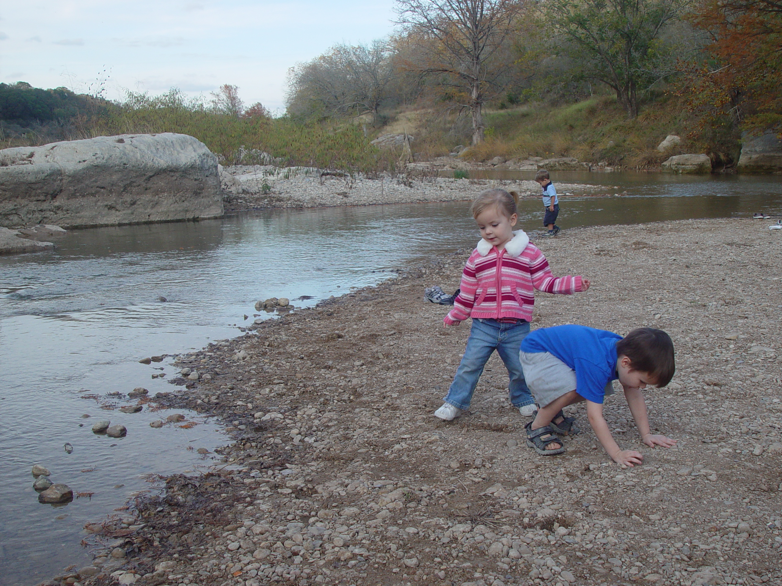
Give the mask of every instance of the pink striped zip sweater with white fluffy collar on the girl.
M 532 321 L 533 288 L 546 293 L 572 295 L 582 291 L 581 277 L 554 277 L 540 248 L 523 230 L 503 250 L 481 239 L 461 275 L 461 292 L 443 319 L 448 325 L 468 317 Z

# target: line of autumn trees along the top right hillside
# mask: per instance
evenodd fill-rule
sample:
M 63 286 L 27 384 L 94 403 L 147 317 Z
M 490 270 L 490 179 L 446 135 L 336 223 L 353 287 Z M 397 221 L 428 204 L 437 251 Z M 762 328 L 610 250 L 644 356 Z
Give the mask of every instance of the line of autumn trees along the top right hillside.
M 737 127 L 782 123 L 778 0 L 396 0 L 397 33 L 335 45 L 289 71 L 287 109 L 306 119 L 400 106 L 469 120 L 530 101 L 610 91 L 626 116 L 655 91 Z

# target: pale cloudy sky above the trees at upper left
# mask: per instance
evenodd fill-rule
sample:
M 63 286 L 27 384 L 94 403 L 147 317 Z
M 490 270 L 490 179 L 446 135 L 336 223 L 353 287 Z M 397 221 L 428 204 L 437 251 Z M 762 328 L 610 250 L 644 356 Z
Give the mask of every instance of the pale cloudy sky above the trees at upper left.
M 290 67 L 393 32 L 393 0 L 27 0 L 0 9 L 0 82 L 121 98 L 239 86 L 285 109 Z

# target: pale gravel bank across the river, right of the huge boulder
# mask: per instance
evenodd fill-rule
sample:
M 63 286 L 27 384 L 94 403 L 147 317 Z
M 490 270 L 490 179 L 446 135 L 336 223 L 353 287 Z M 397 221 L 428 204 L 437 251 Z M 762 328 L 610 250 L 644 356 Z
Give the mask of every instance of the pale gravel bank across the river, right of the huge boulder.
M 272 166 L 225 167 L 235 181 L 224 181 L 226 211 L 258 208 L 314 208 L 335 205 L 452 202 L 474 197 L 481 188 L 499 186 L 522 197 L 540 197 L 534 181 L 444 179 L 387 174 L 365 177 L 321 177 L 320 170 Z M 485 186 L 485 187 L 484 187 Z M 561 195 L 605 195 L 602 186 L 558 183 Z

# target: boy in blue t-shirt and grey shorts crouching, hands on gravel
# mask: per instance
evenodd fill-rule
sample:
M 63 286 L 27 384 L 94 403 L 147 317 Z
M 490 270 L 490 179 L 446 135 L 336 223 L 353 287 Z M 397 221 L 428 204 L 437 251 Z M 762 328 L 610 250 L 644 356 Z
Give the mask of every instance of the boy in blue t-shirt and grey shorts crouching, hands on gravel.
M 619 448 L 603 418 L 603 398 L 613 393 L 616 379 L 644 444 L 676 445 L 676 440 L 651 433 L 641 392 L 647 384 L 664 387 L 673 378 L 673 341 L 664 331 L 640 327 L 622 338 L 586 326 L 544 327 L 524 338 L 519 356 L 527 386 L 540 405 L 535 420 L 526 425 L 527 445 L 539 454 L 565 452 L 556 434 L 575 431 L 575 419 L 565 417 L 562 408 L 586 401 L 590 425 L 608 456 L 626 466 L 642 463 L 640 452 Z

